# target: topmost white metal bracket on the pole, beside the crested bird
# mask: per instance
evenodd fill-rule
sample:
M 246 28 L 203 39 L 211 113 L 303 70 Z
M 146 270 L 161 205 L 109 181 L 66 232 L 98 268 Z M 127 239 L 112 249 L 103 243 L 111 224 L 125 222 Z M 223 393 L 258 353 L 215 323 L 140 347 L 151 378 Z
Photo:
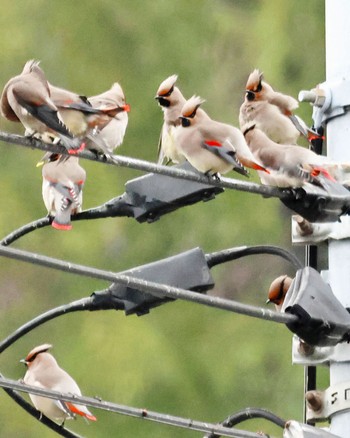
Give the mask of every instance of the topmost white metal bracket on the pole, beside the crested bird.
M 350 82 L 323 82 L 316 88 L 299 93 L 300 102 L 310 102 L 313 105 L 312 118 L 316 129 L 326 124 L 330 119 L 339 117 L 350 108 Z

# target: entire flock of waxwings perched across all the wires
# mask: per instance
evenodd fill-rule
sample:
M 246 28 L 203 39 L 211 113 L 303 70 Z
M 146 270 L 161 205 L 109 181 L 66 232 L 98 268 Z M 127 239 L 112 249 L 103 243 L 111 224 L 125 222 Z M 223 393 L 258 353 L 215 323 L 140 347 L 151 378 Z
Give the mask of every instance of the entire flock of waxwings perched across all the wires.
M 239 125 L 210 118 L 199 96 L 186 99 L 176 86 L 177 75 L 165 79 L 155 98 L 164 122 L 158 147 L 158 164 L 188 161 L 208 177 L 219 178 L 234 170 L 248 175 L 258 172 L 262 184 L 278 187 L 322 186 L 322 178 L 346 184 L 349 165 L 335 163 L 311 149 L 297 145 L 300 136 L 309 141 L 320 136 L 293 111 L 298 102 L 275 91 L 259 70 L 248 77 Z M 85 97 L 50 84 L 39 62 L 28 61 L 23 71 L 5 85 L 1 114 L 21 122 L 25 135 L 50 144 L 60 143 L 66 154 L 48 152 L 42 168 L 42 194 L 53 227 L 71 229 L 71 215 L 81 211 L 85 170 L 77 154 L 84 148 L 110 156 L 123 142 L 130 106 L 118 83 L 97 96 Z M 281 276 L 269 291 L 269 301 L 280 310 L 291 279 Z M 76 382 L 62 370 L 44 344 L 30 351 L 24 383 L 80 395 Z M 49 418 L 64 423 L 81 415 L 95 421 L 83 405 L 30 394 L 34 406 Z

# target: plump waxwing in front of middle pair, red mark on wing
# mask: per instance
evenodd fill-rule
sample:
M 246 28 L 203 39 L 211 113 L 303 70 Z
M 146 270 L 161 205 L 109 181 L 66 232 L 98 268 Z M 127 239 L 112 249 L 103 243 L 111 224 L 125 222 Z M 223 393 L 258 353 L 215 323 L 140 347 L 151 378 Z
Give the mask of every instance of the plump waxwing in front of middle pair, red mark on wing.
M 242 132 L 234 126 L 212 120 L 200 108 L 204 102 L 192 96 L 181 111 L 181 126 L 175 140 L 190 164 L 206 175 L 218 176 L 230 170 L 247 176 L 244 166 L 264 170 L 249 150 Z

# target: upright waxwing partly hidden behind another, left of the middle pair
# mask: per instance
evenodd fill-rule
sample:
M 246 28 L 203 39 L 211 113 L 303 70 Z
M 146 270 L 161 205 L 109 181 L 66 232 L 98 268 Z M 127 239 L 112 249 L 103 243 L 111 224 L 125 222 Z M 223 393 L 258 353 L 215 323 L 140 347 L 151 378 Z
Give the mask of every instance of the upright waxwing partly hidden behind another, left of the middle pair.
M 182 163 L 184 155 L 175 142 L 175 130 L 181 124 L 179 117 L 186 99 L 175 86 L 177 75 L 169 76 L 159 86 L 155 99 L 163 110 L 164 122 L 158 144 L 158 164 Z

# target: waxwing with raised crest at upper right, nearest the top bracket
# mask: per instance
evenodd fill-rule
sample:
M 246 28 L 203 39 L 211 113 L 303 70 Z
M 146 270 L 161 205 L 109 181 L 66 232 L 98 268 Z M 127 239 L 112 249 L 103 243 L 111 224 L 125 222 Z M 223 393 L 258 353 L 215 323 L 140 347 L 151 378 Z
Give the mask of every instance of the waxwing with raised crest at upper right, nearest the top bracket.
M 293 113 L 298 106 L 294 97 L 275 91 L 255 69 L 248 77 L 240 107 L 240 127 L 254 122 L 271 140 L 282 144 L 296 144 L 300 135 L 309 141 L 318 138 L 319 135 Z

